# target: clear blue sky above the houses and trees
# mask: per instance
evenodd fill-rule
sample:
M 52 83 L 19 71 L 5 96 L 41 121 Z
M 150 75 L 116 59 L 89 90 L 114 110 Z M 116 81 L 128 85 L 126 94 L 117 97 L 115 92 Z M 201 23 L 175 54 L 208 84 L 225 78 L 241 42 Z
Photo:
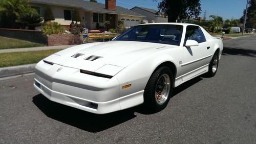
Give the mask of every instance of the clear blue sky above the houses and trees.
M 131 9 L 135 6 L 156 9 L 162 0 L 116 0 L 117 6 Z M 105 3 L 105 0 L 97 0 L 98 3 Z M 200 16 L 204 16 L 206 11 L 206 19 L 211 14 L 218 15 L 224 19 L 239 19 L 243 15 L 247 0 L 201 0 L 202 12 Z

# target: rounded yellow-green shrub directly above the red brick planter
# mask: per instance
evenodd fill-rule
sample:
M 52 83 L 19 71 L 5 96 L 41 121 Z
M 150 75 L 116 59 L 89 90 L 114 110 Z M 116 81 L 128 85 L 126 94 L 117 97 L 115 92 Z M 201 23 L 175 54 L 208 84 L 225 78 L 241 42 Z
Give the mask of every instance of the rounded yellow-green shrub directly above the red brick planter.
M 58 22 L 46 22 L 44 26 L 42 26 L 42 33 L 51 35 L 51 34 L 62 34 L 65 32 L 65 28 L 63 28 Z

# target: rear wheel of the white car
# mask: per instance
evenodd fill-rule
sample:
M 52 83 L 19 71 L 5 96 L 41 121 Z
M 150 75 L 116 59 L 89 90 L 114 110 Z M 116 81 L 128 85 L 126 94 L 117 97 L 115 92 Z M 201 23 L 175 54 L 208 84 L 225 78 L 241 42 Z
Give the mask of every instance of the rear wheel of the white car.
M 218 52 L 215 52 L 214 56 L 210 61 L 209 69 L 208 69 L 208 72 L 206 73 L 206 76 L 214 77 L 215 74 L 217 73 L 218 66 L 219 66 L 219 55 L 218 55 Z

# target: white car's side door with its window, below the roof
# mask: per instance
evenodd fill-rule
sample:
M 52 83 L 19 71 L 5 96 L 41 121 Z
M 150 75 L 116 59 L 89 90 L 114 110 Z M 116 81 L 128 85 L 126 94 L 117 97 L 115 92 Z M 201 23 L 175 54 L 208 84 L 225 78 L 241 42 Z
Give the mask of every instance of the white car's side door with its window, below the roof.
M 196 40 L 199 45 L 186 47 L 185 43 L 187 39 Z M 189 79 L 189 77 L 194 77 L 203 73 L 201 69 L 205 69 L 209 63 L 209 59 L 212 56 L 210 49 L 212 48 L 210 47 L 209 42 L 206 41 L 200 27 L 186 27 L 185 40 L 182 49 L 184 58 L 182 60 L 181 67 L 183 69 L 184 76 L 187 75 L 185 79 Z

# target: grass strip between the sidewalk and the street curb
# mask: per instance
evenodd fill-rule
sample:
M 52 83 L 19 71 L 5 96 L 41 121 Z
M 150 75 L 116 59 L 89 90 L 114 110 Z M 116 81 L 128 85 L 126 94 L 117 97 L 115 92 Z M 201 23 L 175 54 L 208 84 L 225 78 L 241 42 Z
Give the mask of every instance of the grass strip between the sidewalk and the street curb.
M 60 50 L 0 53 L 0 67 L 37 63 Z

